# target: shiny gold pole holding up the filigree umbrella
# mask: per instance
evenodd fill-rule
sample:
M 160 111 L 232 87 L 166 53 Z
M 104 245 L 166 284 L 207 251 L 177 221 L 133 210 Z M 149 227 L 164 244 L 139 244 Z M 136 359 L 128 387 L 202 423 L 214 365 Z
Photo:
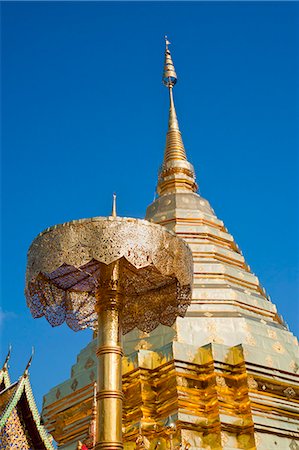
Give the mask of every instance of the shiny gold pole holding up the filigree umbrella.
M 121 450 L 122 346 L 119 262 L 107 268 L 106 283 L 97 292 L 98 381 L 97 442 L 95 450 Z

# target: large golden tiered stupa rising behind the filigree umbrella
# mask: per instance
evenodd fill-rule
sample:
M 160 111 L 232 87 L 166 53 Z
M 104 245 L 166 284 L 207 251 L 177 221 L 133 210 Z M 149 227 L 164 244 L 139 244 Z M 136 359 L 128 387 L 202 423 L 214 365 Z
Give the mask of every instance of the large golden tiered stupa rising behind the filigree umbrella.
M 125 449 L 299 449 L 298 341 L 209 202 L 197 193 L 176 116 L 177 81 L 166 39 L 170 109 L 157 199 L 145 219 L 190 246 L 192 303 L 172 328 L 125 336 Z M 43 420 L 59 449 L 91 449 L 96 341 L 70 379 L 45 395 Z

